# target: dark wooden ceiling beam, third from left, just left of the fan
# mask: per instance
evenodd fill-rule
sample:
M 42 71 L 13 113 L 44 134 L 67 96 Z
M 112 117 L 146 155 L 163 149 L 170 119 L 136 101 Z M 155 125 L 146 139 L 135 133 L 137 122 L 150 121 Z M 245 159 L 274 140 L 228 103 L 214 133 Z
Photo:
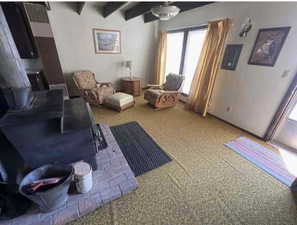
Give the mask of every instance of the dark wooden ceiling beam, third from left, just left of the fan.
M 163 2 L 140 2 L 125 11 L 125 19 L 130 20 L 151 10 L 152 7 L 162 5 Z

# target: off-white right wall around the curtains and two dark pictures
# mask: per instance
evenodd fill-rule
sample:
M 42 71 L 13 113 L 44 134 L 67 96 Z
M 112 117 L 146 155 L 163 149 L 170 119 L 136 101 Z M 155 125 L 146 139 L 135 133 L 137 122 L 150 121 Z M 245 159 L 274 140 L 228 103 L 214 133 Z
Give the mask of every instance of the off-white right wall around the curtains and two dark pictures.
M 220 18 L 233 19 L 229 44 L 242 43 L 236 71 L 220 70 L 210 113 L 258 136 L 263 136 L 297 69 L 297 3 L 220 2 L 181 13 L 161 22 L 160 29 L 170 30 Z M 253 28 L 246 38 L 238 36 L 240 24 L 252 19 Z M 274 67 L 248 65 L 260 28 L 291 26 L 289 35 Z M 286 75 L 286 70 L 289 70 Z M 231 107 L 228 112 L 227 107 Z

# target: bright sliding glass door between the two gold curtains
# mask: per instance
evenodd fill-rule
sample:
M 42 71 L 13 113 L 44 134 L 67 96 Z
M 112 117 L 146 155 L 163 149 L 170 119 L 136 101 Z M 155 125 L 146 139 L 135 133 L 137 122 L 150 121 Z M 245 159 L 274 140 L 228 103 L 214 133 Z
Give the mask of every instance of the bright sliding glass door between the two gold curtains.
M 168 32 L 166 75 L 179 73 L 185 76 L 181 92 L 188 95 L 206 36 L 206 27 Z

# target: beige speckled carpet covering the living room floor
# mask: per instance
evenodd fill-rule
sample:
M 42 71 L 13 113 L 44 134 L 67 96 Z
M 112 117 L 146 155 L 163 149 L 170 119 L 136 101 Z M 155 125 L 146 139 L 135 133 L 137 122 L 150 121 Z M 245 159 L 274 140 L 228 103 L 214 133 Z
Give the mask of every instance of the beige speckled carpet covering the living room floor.
M 239 136 L 263 142 L 182 104 L 154 111 L 142 97 L 136 102 L 121 113 L 94 107 L 95 118 L 108 125 L 138 121 L 174 160 L 137 177 L 133 193 L 72 225 L 297 224 L 290 190 L 223 146 Z

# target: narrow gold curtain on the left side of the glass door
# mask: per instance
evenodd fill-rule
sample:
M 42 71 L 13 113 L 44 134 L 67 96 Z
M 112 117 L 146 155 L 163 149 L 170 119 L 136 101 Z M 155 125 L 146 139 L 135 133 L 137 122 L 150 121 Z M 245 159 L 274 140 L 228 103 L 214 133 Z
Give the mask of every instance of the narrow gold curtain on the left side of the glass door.
M 163 84 L 165 81 L 167 33 L 161 32 L 156 60 L 155 83 Z

